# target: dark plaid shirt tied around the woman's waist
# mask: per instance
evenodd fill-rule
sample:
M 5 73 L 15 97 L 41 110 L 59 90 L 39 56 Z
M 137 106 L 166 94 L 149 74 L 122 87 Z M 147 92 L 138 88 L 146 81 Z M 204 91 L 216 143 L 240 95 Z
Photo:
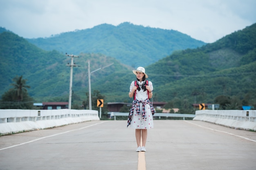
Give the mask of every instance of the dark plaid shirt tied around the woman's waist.
M 127 127 L 131 124 L 132 115 L 133 115 L 134 109 L 136 109 L 136 113 L 137 113 L 138 115 L 140 115 L 139 103 L 142 103 L 142 118 L 143 118 L 143 119 L 146 119 L 146 118 L 147 118 L 146 112 L 145 112 L 145 106 L 146 106 L 146 104 L 150 105 L 150 109 L 151 109 L 152 116 L 155 114 L 155 109 L 154 109 L 154 107 L 153 107 L 153 105 L 151 104 L 151 102 L 150 102 L 149 99 L 146 99 L 146 100 L 138 100 L 138 99 L 133 100 L 132 106 L 131 106 L 131 108 L 130 108 L 130 113 L 129 113 L 129 116 L 128 116 Z

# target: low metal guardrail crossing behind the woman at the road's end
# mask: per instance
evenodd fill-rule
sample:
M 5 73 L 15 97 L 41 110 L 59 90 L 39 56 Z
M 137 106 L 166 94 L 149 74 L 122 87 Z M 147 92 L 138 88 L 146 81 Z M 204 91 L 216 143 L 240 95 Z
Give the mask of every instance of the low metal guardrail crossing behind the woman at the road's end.
M 116 120 L 116 116 L 128 116 L 129 113 L 122 113 L 122 112 L 108 112 L 108 115 L 110 115 L 110 118 L 114 117 L 114 120 Z M 194 118 L 194 114 L 179 114 L 179 113 L 155 113 L 154 117 L 158 116 L 159 119 L 161 117 L 182 117 L 183 120 L 185 118 Z

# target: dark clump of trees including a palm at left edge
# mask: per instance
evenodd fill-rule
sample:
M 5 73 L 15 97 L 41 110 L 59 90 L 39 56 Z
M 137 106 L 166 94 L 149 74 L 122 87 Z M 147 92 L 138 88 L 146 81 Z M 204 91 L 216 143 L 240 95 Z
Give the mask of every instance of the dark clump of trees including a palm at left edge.
M 16 76 L 13 78 L 11 85 L 14 88 L 9 89 L 2 95 L 1 109 L 32 109 L 33 98 L 29 96 L 26 88 L 30 88 L 26 85 L 25 79 L 22 76 Z

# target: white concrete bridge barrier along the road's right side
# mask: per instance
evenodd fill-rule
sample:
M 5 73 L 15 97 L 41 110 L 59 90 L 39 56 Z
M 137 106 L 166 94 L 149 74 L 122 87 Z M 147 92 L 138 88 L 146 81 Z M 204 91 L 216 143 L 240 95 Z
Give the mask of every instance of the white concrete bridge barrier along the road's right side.
M 193 120 L 256 131 L 256 110 L 198 110 Z

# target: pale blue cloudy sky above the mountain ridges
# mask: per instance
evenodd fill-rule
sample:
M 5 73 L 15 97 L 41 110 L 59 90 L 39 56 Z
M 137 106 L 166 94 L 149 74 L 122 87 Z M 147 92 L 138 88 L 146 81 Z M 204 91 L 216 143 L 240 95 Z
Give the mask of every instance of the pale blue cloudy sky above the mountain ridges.
M 213 43 L 256 23 L 256 0 L 0 0 L 0 27 L 24 38 L 123 22 Z

